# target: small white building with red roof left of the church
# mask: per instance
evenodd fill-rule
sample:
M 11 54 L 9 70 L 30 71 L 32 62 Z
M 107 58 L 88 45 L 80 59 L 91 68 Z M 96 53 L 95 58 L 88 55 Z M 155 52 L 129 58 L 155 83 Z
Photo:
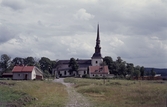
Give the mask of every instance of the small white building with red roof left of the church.
M 43 72 L 36 66 L 15 66 L 12 70 L 13 80 L 42 80 Z

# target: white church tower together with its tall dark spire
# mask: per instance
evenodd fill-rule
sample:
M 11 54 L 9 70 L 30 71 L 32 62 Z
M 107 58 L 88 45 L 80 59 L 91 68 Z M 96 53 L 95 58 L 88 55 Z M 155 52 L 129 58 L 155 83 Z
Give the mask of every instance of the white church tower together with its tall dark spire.
M 98 24 L 97 25 L 97 38 L 96 38 L 95 53 L 92 56 L 92 66 L 100 66 L 100 64 L 102 62 L 103 62 L 103 58 L 101 55 L 99 24 Z

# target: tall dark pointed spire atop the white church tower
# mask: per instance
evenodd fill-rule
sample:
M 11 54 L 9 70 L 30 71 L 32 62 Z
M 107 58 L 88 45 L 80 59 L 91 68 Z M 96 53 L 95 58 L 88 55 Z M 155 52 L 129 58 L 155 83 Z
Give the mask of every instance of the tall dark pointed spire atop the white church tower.
M 101 47 L 100 47 L 99 24 L 97 25 L 97 38 L 96 38 L 95 53 L 93 54 L 92 58 L 102 58 Z

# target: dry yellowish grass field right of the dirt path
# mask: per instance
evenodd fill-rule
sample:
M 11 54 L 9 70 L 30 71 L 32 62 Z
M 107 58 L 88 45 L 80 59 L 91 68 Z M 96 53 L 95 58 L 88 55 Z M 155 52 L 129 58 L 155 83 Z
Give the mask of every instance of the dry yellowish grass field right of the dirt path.
M 66 78 L 94 107 L 166 107 L 167 81 Z

